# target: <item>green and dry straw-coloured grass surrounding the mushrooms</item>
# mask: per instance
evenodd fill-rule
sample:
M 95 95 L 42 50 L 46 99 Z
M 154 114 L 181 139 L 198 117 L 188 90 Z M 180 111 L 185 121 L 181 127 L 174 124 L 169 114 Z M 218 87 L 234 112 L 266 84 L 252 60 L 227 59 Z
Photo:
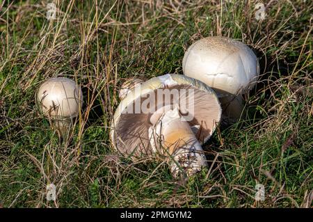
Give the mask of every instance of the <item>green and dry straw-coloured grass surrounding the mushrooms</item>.
M 259 21 L 252 0 L 58 0 L 50 21 L 48 2 L 0 1 L 0 207 L 312 207 L 312 1 L 263 1 Z M 184 51 L 209 35 L 245 42 L 262 72 L 245 118 L 204 145 L 209 168 L 176 181 L 160 159 L 117 160 L 123 81 L 182 74 Z M 66 141 L 35 106 L 50 77 L 83 87 Z

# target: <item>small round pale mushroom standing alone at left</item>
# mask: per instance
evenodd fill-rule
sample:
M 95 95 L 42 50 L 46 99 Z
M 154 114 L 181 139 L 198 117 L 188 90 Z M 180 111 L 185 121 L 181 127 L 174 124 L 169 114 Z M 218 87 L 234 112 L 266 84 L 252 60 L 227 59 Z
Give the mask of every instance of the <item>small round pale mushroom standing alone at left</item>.
M 72 79 L 52 78 L 39 87 L 36 103 L 41 113 L 51 120 L 51 126 L 64 137 L 72 125 L 72 118 L 79 115 L 83 93 Z

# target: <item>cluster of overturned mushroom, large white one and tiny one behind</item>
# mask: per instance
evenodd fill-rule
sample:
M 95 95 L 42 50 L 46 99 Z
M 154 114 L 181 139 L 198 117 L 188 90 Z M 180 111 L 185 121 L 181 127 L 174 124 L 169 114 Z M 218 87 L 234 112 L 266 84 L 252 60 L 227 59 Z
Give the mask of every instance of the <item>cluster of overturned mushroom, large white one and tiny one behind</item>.
M 259 75 L 257 56 L 247 45 L 218 36 L 191 45 L 182 68 L 184 75 L 126 81 L 110 134 L 113 147 L 133 159 L 161 154 L 175 178 L 207 166 L 201 143 L 209 140 L 220 120 L 233 123 L 240 118 L 241 95 L 255 86 Z M 175 95 L 164 102 L 164 94 Z

